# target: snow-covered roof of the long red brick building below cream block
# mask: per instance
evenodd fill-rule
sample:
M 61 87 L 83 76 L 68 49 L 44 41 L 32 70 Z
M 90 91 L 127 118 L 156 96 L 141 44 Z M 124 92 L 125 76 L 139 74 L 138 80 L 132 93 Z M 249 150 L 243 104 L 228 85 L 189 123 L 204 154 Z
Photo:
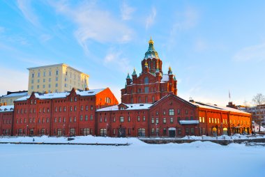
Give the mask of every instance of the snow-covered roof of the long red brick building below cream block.
M 77 95 L 81 95 L 81 96 L 91 96 L 91 95 L 96 95 L 98 93 L 100 93 L 100 91 L 105 90 L 105 88 L 99 88 L 99 89 L 91 89 L 89 91 L 79 91 L 76 90 L 75 93 Z M 43 99 L 54 99 L 54 98 L 66 98 L 69 94 L 69 92 L 59 92 L 59 93 L 33 93 L 35 95 L 36 98 L 39 98 L 40 100 Z M 22 98 L 18 98 L 15 101 L 23 101 L 23 100 L 27 100 L 30 98 L 31 95 L 27 95 L 24 96 Z

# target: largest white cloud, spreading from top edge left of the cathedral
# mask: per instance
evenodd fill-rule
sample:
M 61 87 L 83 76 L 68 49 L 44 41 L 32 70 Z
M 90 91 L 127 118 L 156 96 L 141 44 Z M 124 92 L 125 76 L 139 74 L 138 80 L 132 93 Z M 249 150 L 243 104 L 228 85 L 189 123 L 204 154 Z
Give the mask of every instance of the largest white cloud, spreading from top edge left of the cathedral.
M 98 43 L 127 43 L 132 39 L 132 29 L 95 3 L 82 1 L 77 6 L 70 6 L 64 1 L 50 1 L 50 4 L 77 25 L 74 36 L 86 54 L 89 53 L 91 40 Z

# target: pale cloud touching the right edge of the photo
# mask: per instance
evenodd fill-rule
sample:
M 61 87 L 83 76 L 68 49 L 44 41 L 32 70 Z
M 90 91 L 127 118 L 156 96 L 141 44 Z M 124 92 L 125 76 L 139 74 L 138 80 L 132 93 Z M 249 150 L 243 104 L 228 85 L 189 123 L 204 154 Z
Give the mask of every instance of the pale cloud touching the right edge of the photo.
M 264 61 L 265 60 L 265 43 L 244 47 L 234 56 L 235 61 Z

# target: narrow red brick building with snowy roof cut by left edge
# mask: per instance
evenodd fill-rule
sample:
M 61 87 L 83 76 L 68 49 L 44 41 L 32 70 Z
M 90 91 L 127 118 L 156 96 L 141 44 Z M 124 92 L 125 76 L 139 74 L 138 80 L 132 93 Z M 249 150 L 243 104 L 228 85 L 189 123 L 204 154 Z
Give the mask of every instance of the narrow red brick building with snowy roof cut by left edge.
M 0 107 L 0 132 L 2 136 L 12 135 L 13 110 L 13 105 Z

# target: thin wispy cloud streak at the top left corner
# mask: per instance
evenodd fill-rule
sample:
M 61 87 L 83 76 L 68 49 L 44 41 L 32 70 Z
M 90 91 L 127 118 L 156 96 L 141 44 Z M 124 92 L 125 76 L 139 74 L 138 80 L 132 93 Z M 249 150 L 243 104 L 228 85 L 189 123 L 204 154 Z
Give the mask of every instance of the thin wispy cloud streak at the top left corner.
M 17 0 L 17 6 L 26 18 L 33 26 L 40 26 L 38 22 L 38 17 L 35 14 L 33 8 L 31 7 L 31 1 Z

